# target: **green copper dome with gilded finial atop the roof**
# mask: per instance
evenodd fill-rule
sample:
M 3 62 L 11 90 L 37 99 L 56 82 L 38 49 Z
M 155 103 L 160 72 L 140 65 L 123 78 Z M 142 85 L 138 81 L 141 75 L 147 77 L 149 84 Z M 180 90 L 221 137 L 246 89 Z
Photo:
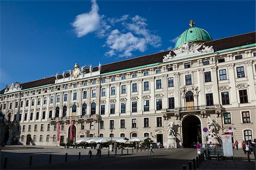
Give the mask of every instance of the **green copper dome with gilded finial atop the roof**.
M 212 37 L 207 31 L 205 31 L 205 29 L 194 27 L 195 23 L 193 20 L 190 21 L 189 25 L 191 28 L 188 28 L 183 33 L 181 33 L 177 39 L 175 48 L 181 44 L 184 44 L 185 42 L 205 42 L 212 40 Z

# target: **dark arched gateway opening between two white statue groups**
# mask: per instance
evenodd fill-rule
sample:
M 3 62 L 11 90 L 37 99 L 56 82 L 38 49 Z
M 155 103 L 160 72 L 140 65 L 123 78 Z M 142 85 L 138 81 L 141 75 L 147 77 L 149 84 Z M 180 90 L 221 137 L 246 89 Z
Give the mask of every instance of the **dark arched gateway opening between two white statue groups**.
M 183 147 L 195 147 L 202 143 L 201 122 L 198 117 L 190 115 L 182 121 Z

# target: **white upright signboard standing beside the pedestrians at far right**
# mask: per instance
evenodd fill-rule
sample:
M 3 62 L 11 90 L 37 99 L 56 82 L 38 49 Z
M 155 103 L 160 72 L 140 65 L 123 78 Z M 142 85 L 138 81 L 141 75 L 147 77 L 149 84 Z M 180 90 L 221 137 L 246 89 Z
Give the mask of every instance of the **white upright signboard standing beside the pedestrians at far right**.
M 222 134 L 223 156 L 233 157 L 233 143 L 231 134 Z

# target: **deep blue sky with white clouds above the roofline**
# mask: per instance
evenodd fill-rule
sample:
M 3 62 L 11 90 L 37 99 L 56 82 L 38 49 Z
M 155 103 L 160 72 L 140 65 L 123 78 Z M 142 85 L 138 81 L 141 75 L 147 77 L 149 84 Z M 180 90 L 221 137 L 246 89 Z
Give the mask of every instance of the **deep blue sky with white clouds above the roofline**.
M 255 31 L 255 1 L 1 1 L 0 89 L 172 49 L 189 28 Z

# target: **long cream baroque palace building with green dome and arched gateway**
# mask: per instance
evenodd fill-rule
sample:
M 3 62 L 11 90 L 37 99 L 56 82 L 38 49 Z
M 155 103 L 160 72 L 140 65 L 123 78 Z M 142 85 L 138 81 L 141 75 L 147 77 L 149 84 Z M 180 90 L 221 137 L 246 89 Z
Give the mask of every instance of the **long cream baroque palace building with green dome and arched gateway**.
M 175 147 L 212 138 L 209 121 L 238 142 L 254 139 L 255 32 L 212 40 L 194 27 L 175 49 L 12 83 L 0 92 L 1 145 L 59 145 L 80 137 L 149 137 Z M 219 139 L 217 140 L 219 141 Z

